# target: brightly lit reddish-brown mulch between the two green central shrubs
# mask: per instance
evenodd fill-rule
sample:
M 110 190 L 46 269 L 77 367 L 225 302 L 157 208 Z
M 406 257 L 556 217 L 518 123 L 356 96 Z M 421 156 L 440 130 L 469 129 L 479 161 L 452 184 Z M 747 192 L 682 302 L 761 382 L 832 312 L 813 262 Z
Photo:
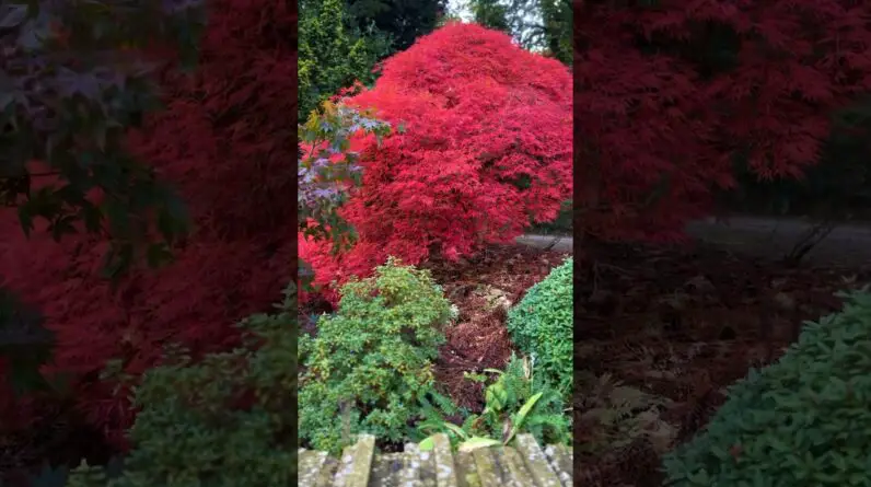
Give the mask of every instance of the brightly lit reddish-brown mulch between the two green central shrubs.
M 436 363 L 436 379 L 457 405 L 480 411 L 484 387 L 465 379 L 464 373 L 503 369 L 513 350 L 503 309 L 490 311 L 486 295 L 479 290 L 486 286 L 497 288 L 504 291 L 511 303 L 516 303 L 567 256 L 560 252 L 500 245 L 468 260 L 437 260 L 427 265 L 448 299 L 460 309 L 460 317 L 446 331 L 448 344 L 441 347 Z

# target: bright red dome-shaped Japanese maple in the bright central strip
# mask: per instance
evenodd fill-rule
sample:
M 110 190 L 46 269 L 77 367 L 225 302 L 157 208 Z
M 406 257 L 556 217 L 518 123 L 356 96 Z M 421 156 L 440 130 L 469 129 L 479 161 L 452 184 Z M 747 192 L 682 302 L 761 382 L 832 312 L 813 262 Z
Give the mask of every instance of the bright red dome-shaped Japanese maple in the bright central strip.
M 363 184 L 341 214 L 360 240 L 332 256 L 329 243 L 301 237 L 316 283 L 368 275 L 388 255 L 418 264 L 510 242 L 571 197 L 569 69 L 506 34 L 449 24 L 387 59 L 349 103 L 407 131 L 380 149 L 357 141 Z

